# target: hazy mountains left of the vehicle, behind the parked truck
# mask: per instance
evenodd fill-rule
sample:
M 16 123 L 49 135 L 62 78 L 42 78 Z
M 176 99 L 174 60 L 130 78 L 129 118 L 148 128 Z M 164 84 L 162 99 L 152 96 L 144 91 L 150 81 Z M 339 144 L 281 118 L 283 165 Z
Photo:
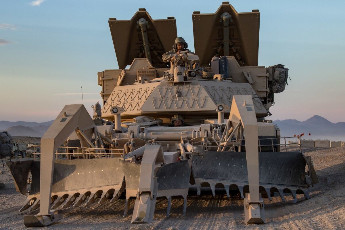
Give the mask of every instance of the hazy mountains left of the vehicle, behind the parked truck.
M 54 120 L 42 123 L 27 121 L 0 121 L 0 131 L 8 131 L 12 136 L 42 137 Z

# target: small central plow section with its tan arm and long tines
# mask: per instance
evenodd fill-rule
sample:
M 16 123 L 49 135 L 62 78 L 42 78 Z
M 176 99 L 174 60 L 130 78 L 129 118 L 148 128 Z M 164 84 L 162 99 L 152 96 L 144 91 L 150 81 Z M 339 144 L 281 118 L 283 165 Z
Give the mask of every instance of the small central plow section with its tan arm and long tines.
M 183 215 L 187 208 L 187 194 L 191 169 L 187 160 L 163 164 L 160 145 L 145 147 L 141 164 L 120 161 L 126 180 L 127 216 L 130 197 L 135 197 L 135 206 L 131 223 L 151 223 L 155 212 L 157 197 L 168 199 L 167 217 L 171 208 L 171 197 L 184 198 Z

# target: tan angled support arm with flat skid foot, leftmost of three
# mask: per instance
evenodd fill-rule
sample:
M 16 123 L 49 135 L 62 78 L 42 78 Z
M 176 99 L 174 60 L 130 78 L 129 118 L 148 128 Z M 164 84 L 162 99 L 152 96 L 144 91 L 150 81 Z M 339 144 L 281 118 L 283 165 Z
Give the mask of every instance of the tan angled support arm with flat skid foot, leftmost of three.
M 97 132 L 82 104 L 66 105 L 41 139 L 40 212 L 36 216 L 24 216 L 26 226 L 47 226 L 62 218 L 62 214 L 50 210 L 54 157 L 57 148 L 75 130 L 89 140 Z

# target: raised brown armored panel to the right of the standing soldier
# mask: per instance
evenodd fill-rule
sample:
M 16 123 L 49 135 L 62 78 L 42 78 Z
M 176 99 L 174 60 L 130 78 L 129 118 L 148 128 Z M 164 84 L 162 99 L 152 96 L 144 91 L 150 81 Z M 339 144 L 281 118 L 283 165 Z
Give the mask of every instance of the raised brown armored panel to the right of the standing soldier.
M 244 66 L 257 66 L 259 52 L 260 12 L 253 10 L 247 13 L 237 13 L 229 2 L 223 2 L 216 13 L 192 14 L 195 53 L 200 58 L 200 65 L 208 67 L 212 57 L 223 56 L 223 48 L 216 55 L 220 43 L 223 41 L 223 22 L 221 15 L 228 12 L 232 22 L 229 22 L 229 56 L 236 57 L 236 51 L 245 63 Z M 234 45 L 235 51 L 231 48 Z

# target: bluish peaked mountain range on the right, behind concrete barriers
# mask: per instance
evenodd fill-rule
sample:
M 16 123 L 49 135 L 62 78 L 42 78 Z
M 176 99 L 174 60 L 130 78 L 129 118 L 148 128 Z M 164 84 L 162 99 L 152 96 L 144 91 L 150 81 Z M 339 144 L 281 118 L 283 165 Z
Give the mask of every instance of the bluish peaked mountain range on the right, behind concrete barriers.
M 282 137 L 293 137 L 304 133 L 304 139 L 345 140 L 345 122 L 332 123 L 321 116 L 313 116 L 305 121 L 295 119 L 275 120 Z M 309 137 L 309 133 L 311 136 Z

